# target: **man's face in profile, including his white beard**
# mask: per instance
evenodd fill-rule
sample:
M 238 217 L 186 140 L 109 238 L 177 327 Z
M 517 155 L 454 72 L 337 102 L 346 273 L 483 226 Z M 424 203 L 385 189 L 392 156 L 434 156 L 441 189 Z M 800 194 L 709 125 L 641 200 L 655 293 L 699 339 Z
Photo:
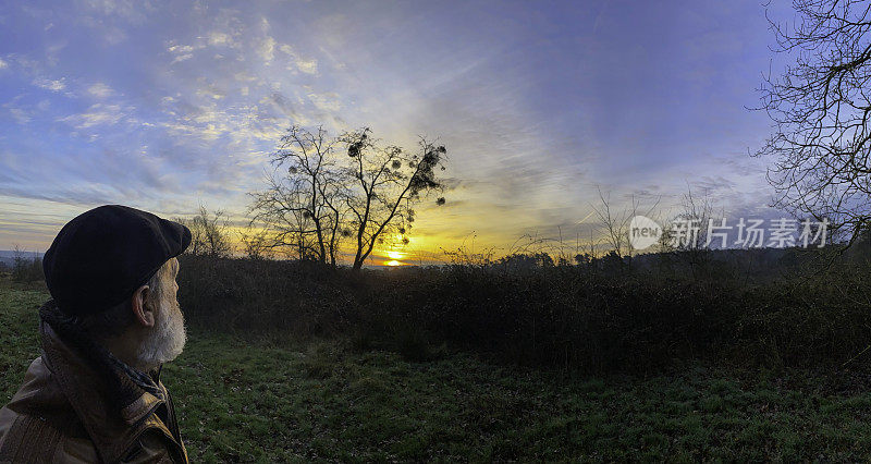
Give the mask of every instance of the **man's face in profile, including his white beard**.
M 160 285 L 151 300 L 156 320 L 139 346 L 138 355 L 139 363 L 149 368 L 157 368 L 163 363 L 175 359 L 187 341 L 184 316 L 176 298 L 179 284 L 175 282 L 175 277 L 179 274 L 179 260 L 172 258 L 167 261 L 158 274 Z

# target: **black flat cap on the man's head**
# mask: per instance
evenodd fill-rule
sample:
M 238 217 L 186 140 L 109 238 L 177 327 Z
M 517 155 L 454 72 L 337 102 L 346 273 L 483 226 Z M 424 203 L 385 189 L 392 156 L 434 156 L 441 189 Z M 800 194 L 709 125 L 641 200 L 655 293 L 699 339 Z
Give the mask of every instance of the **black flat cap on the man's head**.
M 177 222 L 126 206 L 100 206 L 61 229 L 42 270 L 58 307 L 88 316 L 128 298 L 189 244 L 191 231 Z

